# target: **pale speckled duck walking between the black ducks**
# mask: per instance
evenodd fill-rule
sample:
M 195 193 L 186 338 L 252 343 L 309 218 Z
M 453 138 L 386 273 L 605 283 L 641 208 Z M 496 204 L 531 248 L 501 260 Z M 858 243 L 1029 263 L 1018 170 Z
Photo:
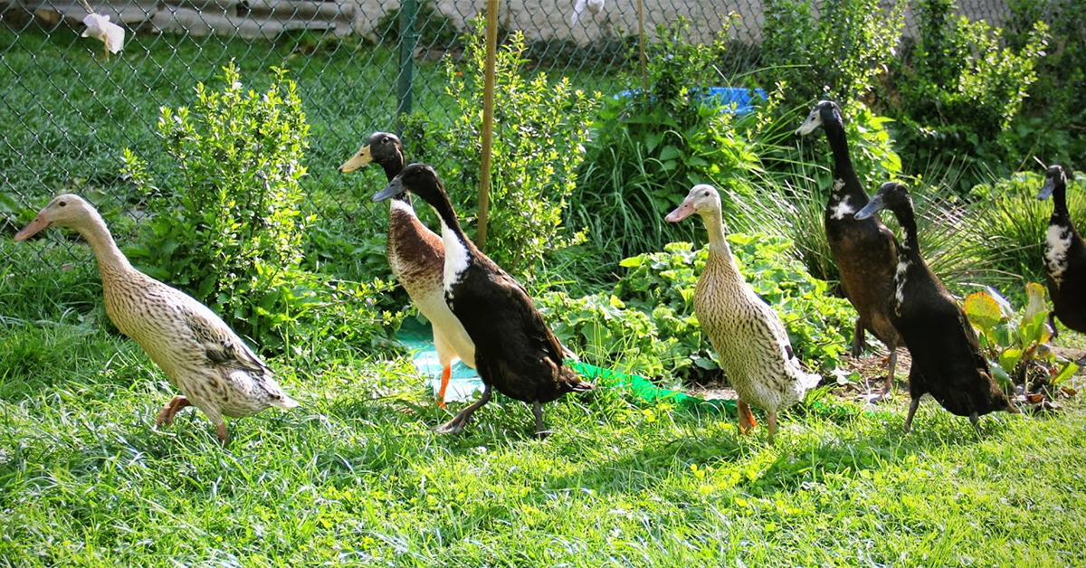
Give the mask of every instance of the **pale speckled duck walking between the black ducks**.
M 776 413 L 801 401 L 822 377 L 804 370 L 781 316 L 743 278 L 724 238 L 721 211 L 717 189 L 700 184 L 665 219 L 679 223 L 697 213 L 708 229 L 709 255 L 694 289 L 694 315 L 738 393 L 740 431 L 755 427 L 754 404 L 769 413 L 772 443 Z

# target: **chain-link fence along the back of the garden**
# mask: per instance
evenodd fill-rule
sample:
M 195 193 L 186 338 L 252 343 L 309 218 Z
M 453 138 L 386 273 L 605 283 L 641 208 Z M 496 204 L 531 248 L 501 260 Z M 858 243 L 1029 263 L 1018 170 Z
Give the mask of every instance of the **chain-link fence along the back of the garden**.
M 62 190 L 135 213 L 141 197 L 130 195 L 119 177 L 123 149 L 144 157 L 162 153 L 155 139 L 160 106 L 191 104 L 195 85 L 213 83 L 230 60 L 250 81 L 247 87 L 268 80 L 270 66 L 289 68 L 298 81 L 312 125 L 307 192 L 324 195 L 314 203 L 318 215 L 342 215 L 352 201 L 359 201 L 352 215 L 378 215 L 361 195 L 343 199 L 357 180 L 336 166 L 374 130 L 395 129 L 399 112 L 450 112 L 440 60 L 458 55 L 458 36 L 484 4 L 0 0 L 0 229 L 10 235 L 25 223 L 27 210 Z M 998 25 L 1008 9 L 1002 0 L 973 0 L 961 10 Z M 80 35 L 88 11 L 125 30 L 123 51 L 106 53 L 109 45 L 93 30 L 92 37 Z M 635 64 L 630 48 L 639 29 L 651 41 L 658 24 L 678 16 L 690 21 L 692 42 L 711 40 L 731 22 L 731 64 L 756 64 L 765 22 L 759 0 L 512 0 L 500 3 L 498 22 L 502 34 L 525 34 L 532 68 L 619 92 L 635 88 L 623 85 L 618 72 Z M 905 34 L 914 33 L 907 11 Z M 152 160 L 152 168 L 164 167 L 168 161 Z

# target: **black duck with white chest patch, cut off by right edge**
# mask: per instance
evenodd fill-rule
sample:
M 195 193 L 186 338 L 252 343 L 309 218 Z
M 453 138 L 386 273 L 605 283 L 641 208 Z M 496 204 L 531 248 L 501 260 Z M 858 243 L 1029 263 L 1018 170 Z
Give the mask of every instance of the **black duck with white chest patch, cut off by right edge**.
M 1052 216 L 1045 236 L 1045 273 L 1052 311 L 1048 325 L 1057 337 L 1056 318 L 1070 329 L 1086 333 L 1086 244 L 1068 212 L 1068 174 L 1051 165 L 1037 199 L 1052 198 Z

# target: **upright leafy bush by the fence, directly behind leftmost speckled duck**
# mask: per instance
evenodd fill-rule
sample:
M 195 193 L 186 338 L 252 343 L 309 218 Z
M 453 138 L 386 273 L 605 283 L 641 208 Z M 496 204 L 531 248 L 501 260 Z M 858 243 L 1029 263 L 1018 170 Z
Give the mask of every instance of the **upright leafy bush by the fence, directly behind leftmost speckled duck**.
M 222 92 L 201 83 L 192 109 L 162 109 L 159 135 L 180 184 L 160 189 L 125 150 L 123 173 L 151 195 L 129 255 L 263 348 L 332 329 L 375 341 L 395 324 L 374 307 L 387 285 L 331 281 L 300 266 L 313 217 L 300 209 L 308 125 L 294 83 L 276 70 L 266 92 L 245 93 L 237 67 L 223 71 Z

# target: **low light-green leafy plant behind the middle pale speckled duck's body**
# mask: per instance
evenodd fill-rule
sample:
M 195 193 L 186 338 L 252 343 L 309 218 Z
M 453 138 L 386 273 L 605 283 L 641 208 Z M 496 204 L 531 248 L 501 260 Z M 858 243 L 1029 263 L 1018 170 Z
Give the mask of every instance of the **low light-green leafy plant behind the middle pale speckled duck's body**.
M 811 367 L 836 367 L 855 318 L 848 302 L 829 296 L 826 282 L 790 256 L 787 239 L 734 233 L 728 240 L 747 282 L 781 315 L 797 356 Z M 551 292 L 540 296 L 541 310 L 563 341 L 602 364 L 711 381 L 720 367 L 694 315 L 694 288 L 707 257 L 706 248 L 669 243 L 662 252 L 622 261 L 628 272 L 611 293 L 573 300 Z

